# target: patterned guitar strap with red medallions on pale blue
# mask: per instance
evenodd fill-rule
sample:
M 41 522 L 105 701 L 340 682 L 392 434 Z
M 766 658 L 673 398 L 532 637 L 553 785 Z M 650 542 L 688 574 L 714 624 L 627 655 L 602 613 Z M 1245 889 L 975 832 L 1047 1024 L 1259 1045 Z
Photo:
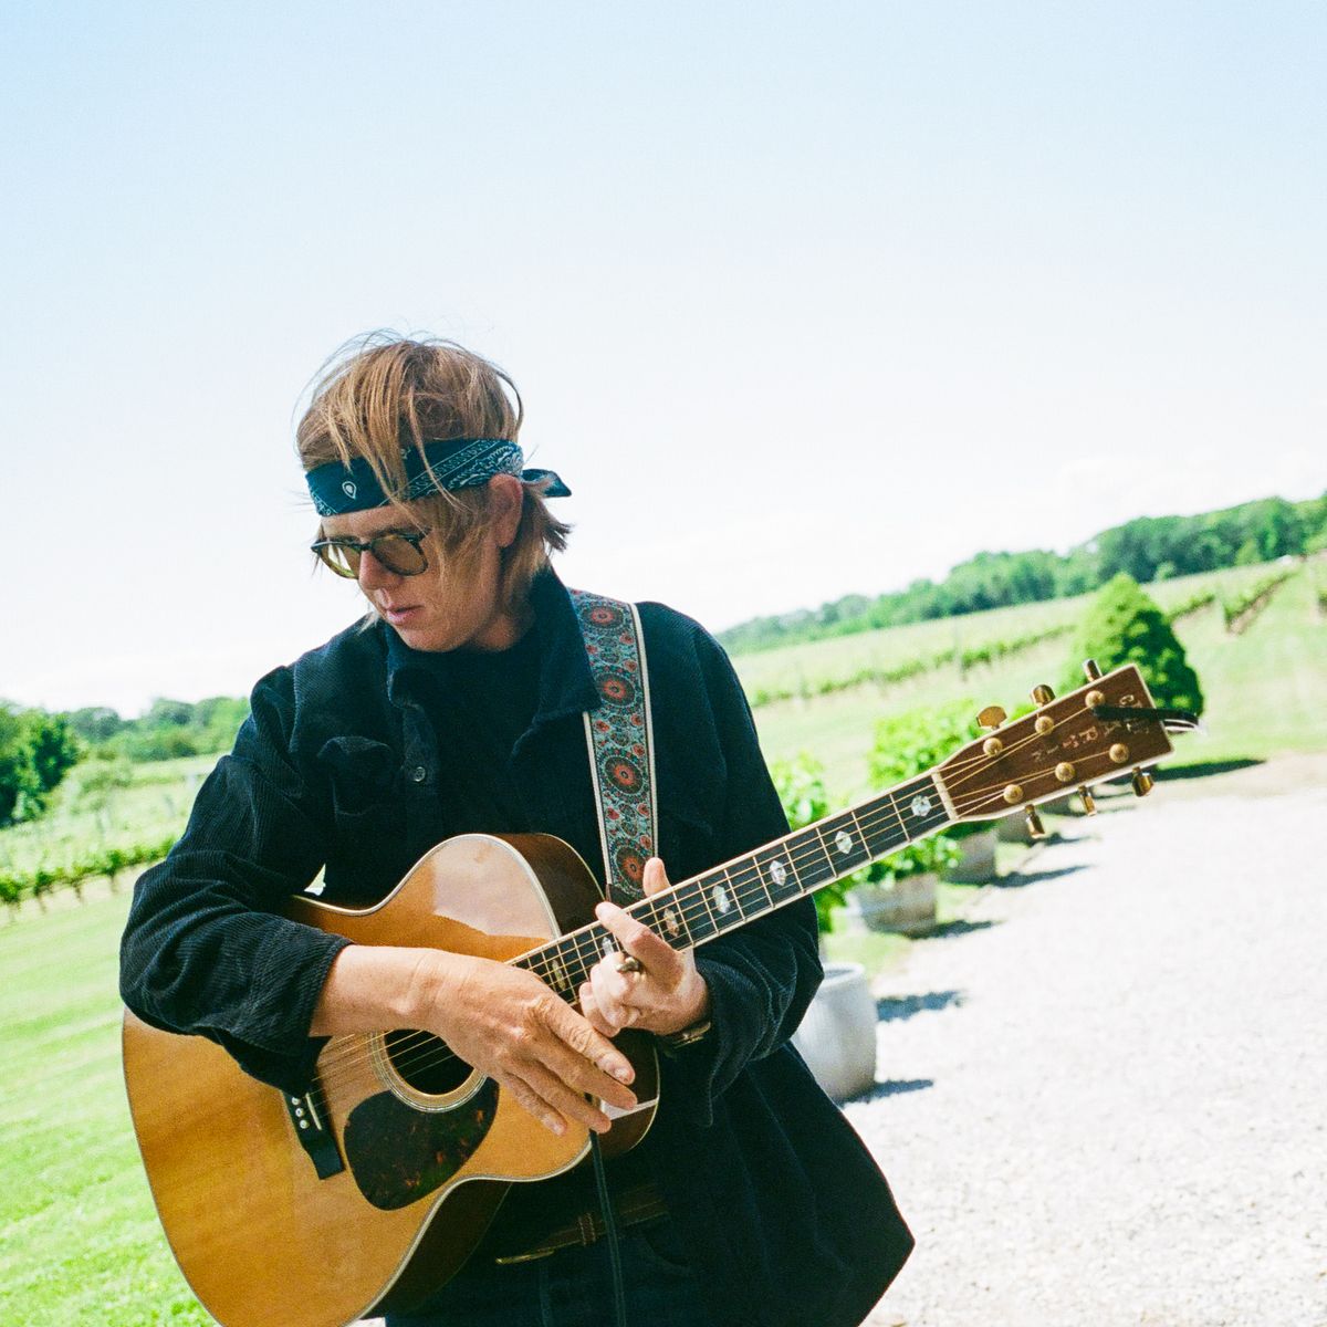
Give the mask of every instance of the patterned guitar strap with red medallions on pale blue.
M 658 841 L 645 637 L 634 604 L 583 589 L 571 596 L 600 695 L 598 709 L 584 719 L 604 885 L 613 902 L 626 906 L 645 897 L 645 863 Z

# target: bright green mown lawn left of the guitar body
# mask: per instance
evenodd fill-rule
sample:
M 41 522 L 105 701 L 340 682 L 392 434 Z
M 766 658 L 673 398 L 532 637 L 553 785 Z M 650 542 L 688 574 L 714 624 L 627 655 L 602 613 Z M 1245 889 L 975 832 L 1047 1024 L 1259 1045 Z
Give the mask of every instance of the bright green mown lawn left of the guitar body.
M 208 1323 L 170 1257 L 119 1070 L 127 898 L 0 926 L 0 1323 Z

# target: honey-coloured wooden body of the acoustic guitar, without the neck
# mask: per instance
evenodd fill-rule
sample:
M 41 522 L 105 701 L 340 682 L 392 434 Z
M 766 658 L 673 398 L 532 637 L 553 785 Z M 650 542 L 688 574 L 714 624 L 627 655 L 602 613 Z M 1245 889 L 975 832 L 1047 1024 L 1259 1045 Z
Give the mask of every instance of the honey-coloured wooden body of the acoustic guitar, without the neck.
M 507 961 L 589 922 L 600 897 L 559 839 L 462 835 L 373 908 L 299 896 L 287 914 L 358 943 Z M 653 1039 L 618 1044 L 642 1105 L 614 1121 L 609 1154 L 645 1135 L 657 1103 Z M 223 1327 L 344 1327 L 407 1308 L 460 1269 L 512 1182 L 559 1174 L 589 1152 L 584 1125 L 556 1137 L 418 1032 L 333 1038 L 316 1088 L 297 1100 L 215 1043 L 129 1013 L 123 1055 L 162 1225 Z M 314 1136 L 317 1162 L 305 1145 Z

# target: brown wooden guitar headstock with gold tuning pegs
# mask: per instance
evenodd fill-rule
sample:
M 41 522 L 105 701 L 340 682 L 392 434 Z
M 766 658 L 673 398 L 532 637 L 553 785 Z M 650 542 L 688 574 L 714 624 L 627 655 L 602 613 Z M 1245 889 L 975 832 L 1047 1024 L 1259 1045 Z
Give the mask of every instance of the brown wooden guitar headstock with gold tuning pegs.
M 1009 723 L 1002 710 L 983 710 L 982 722 L 998 726 L 938 767 L 955 819 L 994 820 L 1027 808 L 1036 833 L 1039 821 L 1031 808 L 1039 802 L 1079 791 L 1091 811 L 1087 790 L 1131 771 L 1133 791 L 1143 796 L 1152 787 L 1144 767 L 1174 750 L 1165 727 L 1157 722 L 1160 714 L 1157 719 L 1101 719 L 1092 713 L 1101 706 L 1156 710 L 1133 664 L 1092 678 L 1058 699 L 1048 687 L 1038 687 L 1032 695 L 1039 707 Z

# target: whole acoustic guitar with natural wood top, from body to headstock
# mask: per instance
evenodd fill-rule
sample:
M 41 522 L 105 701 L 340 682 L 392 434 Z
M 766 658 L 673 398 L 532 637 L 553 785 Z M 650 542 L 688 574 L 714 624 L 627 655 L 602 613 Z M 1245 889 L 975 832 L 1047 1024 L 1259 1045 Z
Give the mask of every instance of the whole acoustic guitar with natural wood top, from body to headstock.
M 926 774 L 685 880 L 629 909 L 678 949 L 703 945 L 962 821 L 1038 803 L 1145 767 L 1170 750 L 1137 669 L 989 729 Z M 337 908 L 296 896 L 287 916 L 364 945 L 430 945 L 539 974 L 573 1002 L 612 937 L 592 921 L 598 888 L 580 857 L 544 835 L 468 833 L 423 856 L 381 904 Z M 649 1129 L 658 1074 L 648 1034 L 620 1044 L 640 1107 L 605 1151 Z M 245 1075 L 212 1042 L 125 1014 L 125 1082 L 158 1214 L 179 1266 L 223 1327 L 342 1327 L 399 1311 L 464 1263 L 511 1184 L 588 1156 L 589 1132 L 556 1137 L 439 1038 L 403 1028 L 334 1036 L 299 1095 Z

